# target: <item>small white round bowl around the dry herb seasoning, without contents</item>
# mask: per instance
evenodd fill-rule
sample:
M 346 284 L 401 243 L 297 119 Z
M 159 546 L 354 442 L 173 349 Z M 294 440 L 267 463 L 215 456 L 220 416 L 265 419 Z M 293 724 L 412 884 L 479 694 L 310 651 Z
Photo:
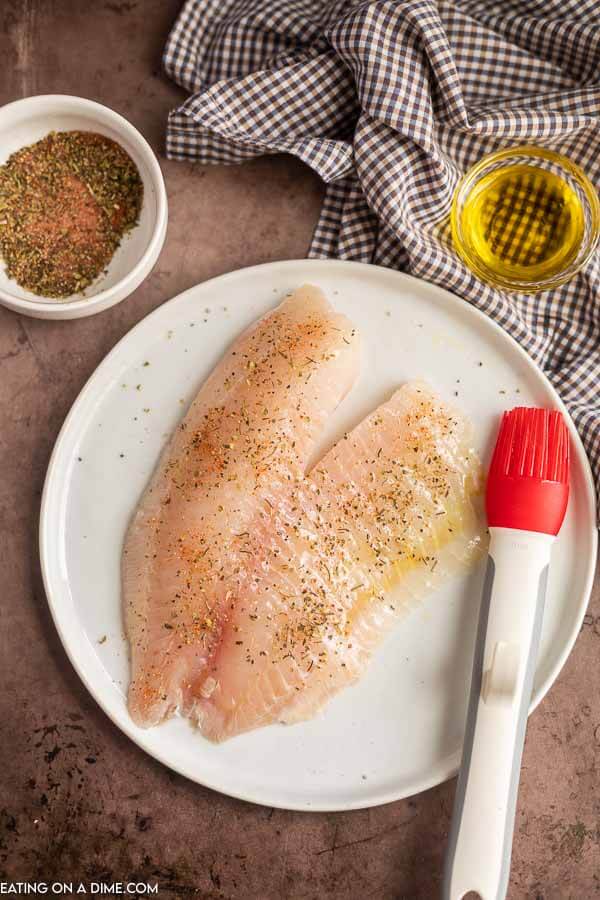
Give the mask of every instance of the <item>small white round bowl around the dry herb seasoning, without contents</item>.
M 0 303 L 37 319 L 79 319 L 128 297 L 158 259 L 167 231 L 167 193 L 150 145 L 127 119 L 93 100 L 47 94 L 0 108 L 0 164 L 11 153 L 50 131 L 95 131 L 119 143 L 144 183 L 139 223 L 123 238 L 108 271 L 85 289 L 62 300 L 38 297 L 8 278 L 0 259 Z

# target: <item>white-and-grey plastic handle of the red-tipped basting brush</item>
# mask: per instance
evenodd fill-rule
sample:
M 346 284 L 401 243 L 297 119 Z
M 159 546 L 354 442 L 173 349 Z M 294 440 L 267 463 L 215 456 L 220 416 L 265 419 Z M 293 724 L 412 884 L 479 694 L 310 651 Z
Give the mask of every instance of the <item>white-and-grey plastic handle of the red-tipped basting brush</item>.
M 508 887 L 521 754 L 542 627 L 551 535 L 490 528 L 444 900 Z

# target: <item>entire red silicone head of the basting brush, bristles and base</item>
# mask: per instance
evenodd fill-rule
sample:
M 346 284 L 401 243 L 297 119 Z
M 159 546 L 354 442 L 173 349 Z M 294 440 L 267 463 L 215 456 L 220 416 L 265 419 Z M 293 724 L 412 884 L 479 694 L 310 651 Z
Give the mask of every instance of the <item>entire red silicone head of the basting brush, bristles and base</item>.
M 558 534 L 569 499 L 569 432 L 561 413 L 504 413 L 486 490 L 488 523 Z

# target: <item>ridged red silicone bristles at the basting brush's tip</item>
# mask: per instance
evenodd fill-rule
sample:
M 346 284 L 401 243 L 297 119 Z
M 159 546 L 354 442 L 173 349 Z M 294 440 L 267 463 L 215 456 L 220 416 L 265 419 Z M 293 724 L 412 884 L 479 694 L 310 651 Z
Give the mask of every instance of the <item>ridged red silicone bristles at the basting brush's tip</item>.
M 560 412 L 517 407 L 504 413 L 490 475 L 569 480 L 569 432 Z

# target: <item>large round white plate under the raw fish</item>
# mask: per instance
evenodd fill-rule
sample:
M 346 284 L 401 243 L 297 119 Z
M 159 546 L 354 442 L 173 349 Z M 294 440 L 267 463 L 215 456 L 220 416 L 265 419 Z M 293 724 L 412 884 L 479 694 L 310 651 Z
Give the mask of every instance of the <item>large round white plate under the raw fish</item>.
M 156 310 L 88 381 L 50 462 L 41 557 L 48 601 L 73 665 L 140 747 L 194 781 L 256 803 L 352 809 L 417 793 L 457 771 L 483 566 L 429 597 L 399 625 L 362 682 L 313 721 L 213 746 L 182 719 L 141 730 L 125 704 L 119 566 L 129 516 L 168 434 L 225 347 L 304 282 L 324 288 L 364 340 L 359 383 L 332 417 L 324 443 L 412 378 L 425 378 L 462 406 L 486 460 L 503 409 L 563 409 L 504 332 L 437 287 L 337 261 L 234 272 Z M 572 434 L 572 499 L 553 550 L 534 706 L 573 646 L 594 570 L 592 481 Z

